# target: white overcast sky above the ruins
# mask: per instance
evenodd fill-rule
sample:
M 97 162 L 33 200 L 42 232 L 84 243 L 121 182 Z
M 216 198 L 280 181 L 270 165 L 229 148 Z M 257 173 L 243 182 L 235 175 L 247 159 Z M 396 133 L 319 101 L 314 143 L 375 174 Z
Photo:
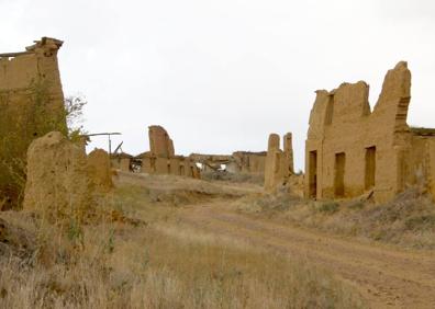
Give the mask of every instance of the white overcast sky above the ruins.
M 261 151 L 293 133 L 295 165 L 316 89 L 413 72 L 409 123 L 435 126 L 432 0 L 0 0 L 0 50 L 41 36 L 59 52 L 65 94 L 83 93 L 86 128 L 148 149 L 165 126 L 178 153 Z M 94 139 L 92 147 L 107 147 Z

